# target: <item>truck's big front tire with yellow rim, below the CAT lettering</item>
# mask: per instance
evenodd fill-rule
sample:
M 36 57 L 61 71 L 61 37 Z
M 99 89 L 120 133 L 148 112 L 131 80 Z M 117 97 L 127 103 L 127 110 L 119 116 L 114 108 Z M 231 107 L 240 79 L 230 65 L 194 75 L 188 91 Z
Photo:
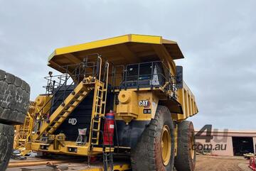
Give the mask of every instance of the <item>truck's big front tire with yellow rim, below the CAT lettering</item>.
M 174 168 L 174 123 L 166 106 L 158 106 L 156 115 L 142 133 L 131 155 L 133 171 L 172 171 Z

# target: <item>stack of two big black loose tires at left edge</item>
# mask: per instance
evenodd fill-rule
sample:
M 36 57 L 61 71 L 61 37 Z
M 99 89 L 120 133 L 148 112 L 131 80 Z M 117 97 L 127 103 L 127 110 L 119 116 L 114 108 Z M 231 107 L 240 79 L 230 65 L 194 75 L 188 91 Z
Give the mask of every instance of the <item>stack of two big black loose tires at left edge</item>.
M 14 143 L 14 125 L 23 124 L 30 87 L 22 79 L 0 70 L 0 171 L 6 170 Z

